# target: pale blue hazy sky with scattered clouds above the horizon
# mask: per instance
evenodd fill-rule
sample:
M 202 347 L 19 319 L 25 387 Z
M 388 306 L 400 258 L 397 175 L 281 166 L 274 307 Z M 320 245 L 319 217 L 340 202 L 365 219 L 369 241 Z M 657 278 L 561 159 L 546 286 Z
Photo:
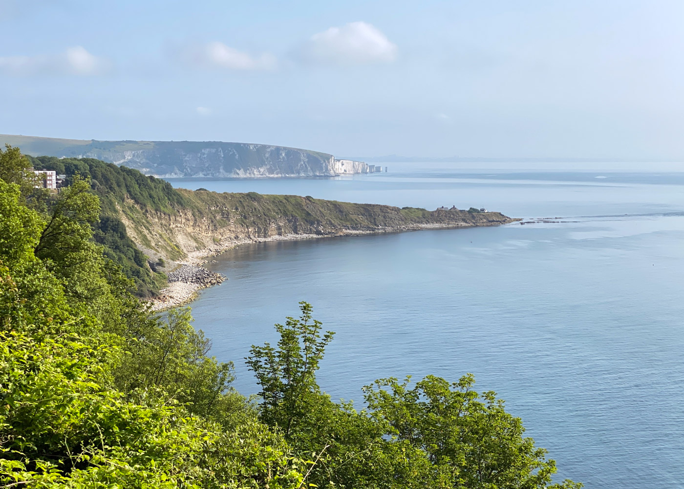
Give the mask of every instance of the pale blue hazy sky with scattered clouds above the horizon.
M 684 1 L 0 0 L 0 134 L 684 160 Z

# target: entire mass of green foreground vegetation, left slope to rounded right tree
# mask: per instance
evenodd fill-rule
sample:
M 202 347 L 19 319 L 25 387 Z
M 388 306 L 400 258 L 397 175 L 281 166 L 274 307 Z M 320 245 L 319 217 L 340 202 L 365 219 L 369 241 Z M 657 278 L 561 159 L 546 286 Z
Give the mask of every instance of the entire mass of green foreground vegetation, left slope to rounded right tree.
M 332 402 L 315 374 L 333 333 L 307 303 L 276 325 L 275 346 L 252 347 L 261 402 L 248 401 L 189 308 L 151 315 L 92 240 L 101 203 L 88 181 L 36 193 L 28 165 L 0 152 L 0 485 L 580 486 L 552 484 L 555 462 L 469 375 L 380 379 L 361 411 Z

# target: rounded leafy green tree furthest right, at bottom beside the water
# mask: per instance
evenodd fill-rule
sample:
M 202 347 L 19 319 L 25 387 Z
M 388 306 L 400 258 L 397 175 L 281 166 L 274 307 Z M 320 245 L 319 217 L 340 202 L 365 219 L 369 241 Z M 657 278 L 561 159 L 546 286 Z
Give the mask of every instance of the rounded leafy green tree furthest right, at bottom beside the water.
M 523 438 L 521 419 L 505 412 L 495 392 L 473 390 L 471 374 L 451 384 L 433 375 L 414 388 L 409 381 L 380 379 L 365 386 L 369 409 L 393 428 L 389 436 L 424 451 L 454 487 L 581 487 L 572 481 L 550 485 L 555 461 L 546 460 L 547 450 L 535 447 L 532 438 Z

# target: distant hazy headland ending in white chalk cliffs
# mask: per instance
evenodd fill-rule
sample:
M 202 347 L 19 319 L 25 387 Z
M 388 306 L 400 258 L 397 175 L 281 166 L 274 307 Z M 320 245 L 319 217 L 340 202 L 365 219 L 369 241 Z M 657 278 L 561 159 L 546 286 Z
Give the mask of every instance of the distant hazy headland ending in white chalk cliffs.
M 95 158 L 157 177 L 330 177 L 367 173 L 364 162 L 283 146 L 220 141 L 96 141 L 0 135 L 32 156 Z

